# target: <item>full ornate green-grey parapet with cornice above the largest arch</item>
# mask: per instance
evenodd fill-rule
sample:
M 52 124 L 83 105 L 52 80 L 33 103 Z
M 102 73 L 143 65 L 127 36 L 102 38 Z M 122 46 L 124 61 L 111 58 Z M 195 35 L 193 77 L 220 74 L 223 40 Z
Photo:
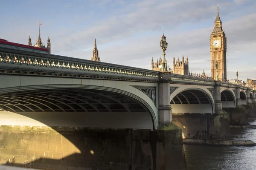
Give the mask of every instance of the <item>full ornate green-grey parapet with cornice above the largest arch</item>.
M 149 82 L 158 82 L 159 79 L 157 71 L 11 48 L 0 48 L 0 70 L 5 74 L 39 74 Z

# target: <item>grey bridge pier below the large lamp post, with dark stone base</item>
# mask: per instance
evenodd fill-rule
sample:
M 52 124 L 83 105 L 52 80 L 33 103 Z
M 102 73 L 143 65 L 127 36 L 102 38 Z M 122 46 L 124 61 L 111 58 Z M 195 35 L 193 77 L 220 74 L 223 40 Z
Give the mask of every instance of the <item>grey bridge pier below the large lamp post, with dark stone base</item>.
M 159 83 L 159 125 L 150 132 L 151 170 L 186 170 L 182 130 L 172 123 L 170 83 Z M 178 162 L 178 163 L 177 163 Z

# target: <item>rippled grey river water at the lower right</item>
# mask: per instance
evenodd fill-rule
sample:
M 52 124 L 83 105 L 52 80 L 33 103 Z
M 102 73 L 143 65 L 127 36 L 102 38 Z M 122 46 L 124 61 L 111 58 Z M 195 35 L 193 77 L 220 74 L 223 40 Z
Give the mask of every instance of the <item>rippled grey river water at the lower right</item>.
M 256 120 L 250 122 L 256 125 Z M 235 139 L 256 142 L 256 129 L 231 130 Z M 184 145 L 188 170 L 256 170 L 256 146 Z

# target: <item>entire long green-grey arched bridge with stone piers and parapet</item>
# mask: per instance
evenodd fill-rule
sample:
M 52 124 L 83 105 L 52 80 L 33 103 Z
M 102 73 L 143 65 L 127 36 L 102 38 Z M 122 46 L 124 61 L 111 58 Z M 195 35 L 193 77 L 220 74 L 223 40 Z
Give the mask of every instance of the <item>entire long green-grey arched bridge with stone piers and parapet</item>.
M 1 47 L 0 164 L 184 169 L 182 138 L 225 138 L 254 102 L 227 82 Z

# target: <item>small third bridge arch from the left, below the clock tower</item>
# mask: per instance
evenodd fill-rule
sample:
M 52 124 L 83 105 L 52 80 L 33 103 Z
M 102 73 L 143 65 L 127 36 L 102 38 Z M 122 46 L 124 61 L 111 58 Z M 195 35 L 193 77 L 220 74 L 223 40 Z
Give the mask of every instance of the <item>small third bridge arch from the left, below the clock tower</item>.
M 236 96 L 230 89 L 221 91 L 222 108 L 236 108 Z

